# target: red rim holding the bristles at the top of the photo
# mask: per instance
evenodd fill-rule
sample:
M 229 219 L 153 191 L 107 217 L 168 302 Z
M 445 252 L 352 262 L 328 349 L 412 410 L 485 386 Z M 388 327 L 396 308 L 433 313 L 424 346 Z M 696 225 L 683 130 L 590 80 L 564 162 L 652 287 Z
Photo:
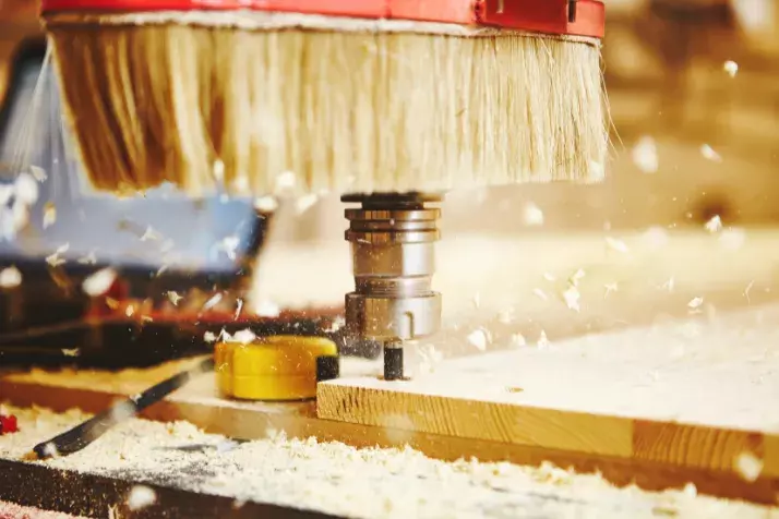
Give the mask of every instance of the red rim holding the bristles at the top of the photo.
M 602 38 L 597 0 L 41 0 L 41 14 L 104 11 L 274 11 L 410 20 Z

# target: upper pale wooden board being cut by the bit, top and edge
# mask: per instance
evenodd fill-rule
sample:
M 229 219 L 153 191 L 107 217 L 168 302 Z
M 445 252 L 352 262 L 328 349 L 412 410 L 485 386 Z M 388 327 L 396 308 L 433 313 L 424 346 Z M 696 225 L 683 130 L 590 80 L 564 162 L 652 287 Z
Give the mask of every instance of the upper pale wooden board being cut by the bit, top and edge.
M 779 306 L 320 384 L 319 417 L 674 467 L 779 472 Z M 463 330 L 467 335 L 468 329 Z

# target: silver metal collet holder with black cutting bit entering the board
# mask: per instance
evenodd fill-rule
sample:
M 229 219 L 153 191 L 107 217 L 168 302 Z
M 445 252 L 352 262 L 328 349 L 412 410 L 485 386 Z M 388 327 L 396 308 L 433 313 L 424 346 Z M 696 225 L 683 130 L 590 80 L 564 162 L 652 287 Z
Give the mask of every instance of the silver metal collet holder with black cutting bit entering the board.
M 441 294 L 432 290 L 440 239 L 438 194 L 350 194 L 345 212 L 355 291 L 346 295 L 346 326 L 381 342 L 384 378 L 404 378 L 403 347 L 441 328 Z

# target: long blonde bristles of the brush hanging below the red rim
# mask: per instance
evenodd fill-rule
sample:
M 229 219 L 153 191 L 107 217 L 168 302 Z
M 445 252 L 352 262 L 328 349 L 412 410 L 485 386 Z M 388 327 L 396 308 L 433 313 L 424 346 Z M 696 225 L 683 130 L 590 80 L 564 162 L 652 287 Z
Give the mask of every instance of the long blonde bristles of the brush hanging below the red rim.
M 264 195 L 287 171 L 299 193 L 602 178 L 597 40 L 117 16 L 48 24 L 99 190 Z

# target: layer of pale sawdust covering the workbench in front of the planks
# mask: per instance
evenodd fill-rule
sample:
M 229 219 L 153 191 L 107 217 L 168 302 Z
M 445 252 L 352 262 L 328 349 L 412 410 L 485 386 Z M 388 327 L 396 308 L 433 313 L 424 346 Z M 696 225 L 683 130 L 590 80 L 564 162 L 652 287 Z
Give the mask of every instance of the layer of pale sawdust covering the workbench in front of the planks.
M 23 431 L 0 436 L 0 456 L 10 459 L 86 418 L 80 411 L 8 410 Z M 192 444 L 208 447 L 171 448 Z M 621 490 L 598 475 L 551 466 L 445 462 L 410 448 L 357 449 L 284 434 L 236 444 L 184 422 L 133 419 L 81 452 L 38 463 L 228 496 L 236 506 L 256 500 L 356 518 L 779 518 L 779 508 L 697 496 L 692 486 L 663 493 Z

